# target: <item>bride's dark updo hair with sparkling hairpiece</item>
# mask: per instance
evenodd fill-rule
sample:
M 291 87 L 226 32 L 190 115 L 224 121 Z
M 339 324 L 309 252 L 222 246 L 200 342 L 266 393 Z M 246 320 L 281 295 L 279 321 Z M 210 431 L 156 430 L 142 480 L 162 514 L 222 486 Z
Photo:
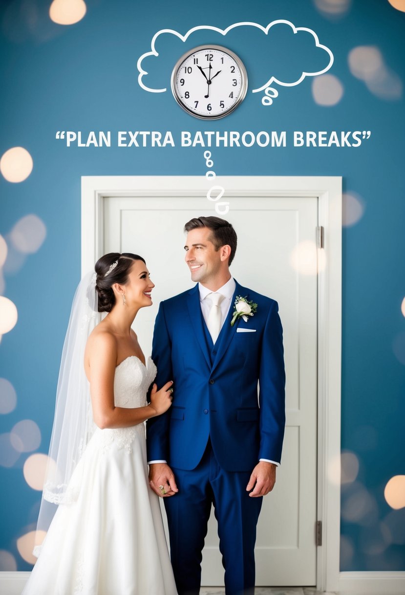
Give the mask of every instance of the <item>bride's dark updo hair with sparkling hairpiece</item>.
M 99 295 L 99 312 L 110 312 L 115 305 L 115 295 L 112 290 L 114 283 L 125 285 L 129 271 L 134 261 L 144 259 L 131 252 L 110 252 L 98 259 L 94 265 L 97 273 L 96 290 Z M 146 264 L 146 263 L 145 263 Z

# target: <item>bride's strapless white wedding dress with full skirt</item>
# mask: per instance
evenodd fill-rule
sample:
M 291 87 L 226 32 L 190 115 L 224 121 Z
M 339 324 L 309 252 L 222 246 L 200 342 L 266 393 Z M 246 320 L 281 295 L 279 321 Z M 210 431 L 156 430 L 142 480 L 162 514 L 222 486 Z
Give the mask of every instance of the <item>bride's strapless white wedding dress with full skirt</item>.
M 146 405 L 156 376 L 129 356 L 116 367 L 115 405 Z M 175 595 L 159 497 L 148 483 L 144 424 L 97 428 L 69 482 L 23 595 Z

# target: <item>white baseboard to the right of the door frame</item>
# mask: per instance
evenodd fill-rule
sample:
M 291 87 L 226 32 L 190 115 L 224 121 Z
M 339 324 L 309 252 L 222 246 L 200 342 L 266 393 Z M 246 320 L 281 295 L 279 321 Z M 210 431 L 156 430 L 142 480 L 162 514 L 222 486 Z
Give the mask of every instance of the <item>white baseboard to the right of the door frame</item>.
M 405 595 L 405 572 L 340 572 L 340 595 Z

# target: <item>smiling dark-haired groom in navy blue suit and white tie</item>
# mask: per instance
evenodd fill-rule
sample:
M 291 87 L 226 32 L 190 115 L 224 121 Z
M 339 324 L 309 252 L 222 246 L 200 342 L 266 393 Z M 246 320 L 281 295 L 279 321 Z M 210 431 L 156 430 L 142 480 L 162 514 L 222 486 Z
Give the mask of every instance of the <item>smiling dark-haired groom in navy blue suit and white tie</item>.
M 198 217 L 185 231 L 197 285 L 160 303 L 156 318 L 156 383 L 174 380 L 174 398 L 166 414 L 147 422 L 150 485 L 164 497 L 179 595 L 200 592 L 211 503 L 226 593 L 253 594 L 256 525 L 284 435 L 281 322 L 277 302 L 230 274 L 237 243 L 230 223 Z M 239 296 L 246 303 L 239 300 L 236 311 L 244 308 L 245 317 L 232 324 Z

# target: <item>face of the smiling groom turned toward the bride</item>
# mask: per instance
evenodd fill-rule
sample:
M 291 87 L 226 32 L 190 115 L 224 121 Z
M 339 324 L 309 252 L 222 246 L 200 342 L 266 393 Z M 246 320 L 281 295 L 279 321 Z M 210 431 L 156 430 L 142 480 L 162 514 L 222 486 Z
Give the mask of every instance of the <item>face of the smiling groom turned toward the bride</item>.
M 185 261 L 191 271 L 191 279 L 196 283 L 209 283 L 220 273 L 220 250 L 211 242 L 211 230 L 198 227 L 188 232 L 184 249 Z

